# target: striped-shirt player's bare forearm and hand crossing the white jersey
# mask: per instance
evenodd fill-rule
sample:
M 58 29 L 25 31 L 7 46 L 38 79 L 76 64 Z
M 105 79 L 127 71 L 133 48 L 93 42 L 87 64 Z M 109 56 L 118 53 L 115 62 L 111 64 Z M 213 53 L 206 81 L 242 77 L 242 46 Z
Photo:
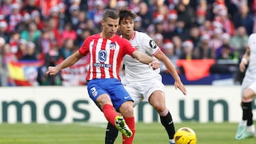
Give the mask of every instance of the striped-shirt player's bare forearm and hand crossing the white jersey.
M 134 52 L 132 52 L 132 56 L 139 60 L 139 62 L 148 64 L 149 67 L 152 67 L 154 70 L 161 67 L 161 63 L 158 60 L 142 52 L 139 52 L 139 50 L 135 50 Z

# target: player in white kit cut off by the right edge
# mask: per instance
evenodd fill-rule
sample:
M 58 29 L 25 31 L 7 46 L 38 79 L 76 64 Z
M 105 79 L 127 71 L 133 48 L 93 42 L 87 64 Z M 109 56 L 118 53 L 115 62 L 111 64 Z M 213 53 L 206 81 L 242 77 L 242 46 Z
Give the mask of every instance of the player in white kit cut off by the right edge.
M 238 124 L 238 131 L 235 135 L 237 140 L 256 136 L 252 120 L 252 101 L 256 94 L 256 33 L 252 33 L 247 41 L 247 49 L 239 69 L 241 72 L 245 72 L 245 70 L 246 72 L 242 80 L 242 120 Z

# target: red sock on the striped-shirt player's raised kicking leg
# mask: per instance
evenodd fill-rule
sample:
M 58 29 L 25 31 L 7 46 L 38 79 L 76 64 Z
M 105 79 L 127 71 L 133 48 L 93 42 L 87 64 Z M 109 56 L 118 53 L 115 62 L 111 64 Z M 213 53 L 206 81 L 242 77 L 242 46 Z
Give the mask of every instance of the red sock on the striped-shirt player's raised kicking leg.
M 107 121 L 115 126 L 114 118 L 117 116 L 117 112 L 114 110 L 114 107 L 110 104 L 105 104 L 104 106 L 102 106 L 102 111 Z

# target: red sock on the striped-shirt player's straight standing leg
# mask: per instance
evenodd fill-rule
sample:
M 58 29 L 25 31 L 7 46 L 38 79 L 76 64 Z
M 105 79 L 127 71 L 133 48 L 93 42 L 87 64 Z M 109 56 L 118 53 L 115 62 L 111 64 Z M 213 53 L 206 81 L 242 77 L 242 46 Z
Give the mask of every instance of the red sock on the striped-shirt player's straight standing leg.
M 129 126 L 130 130 L 132 131 L 132 137 L 126 138 L 124 135 L 122 135 L 122 144 L 132 144 L 134 140 L 134 134 L 135 134 L 135 121 L 134 117 L 124 118 L 124 121 L 127 123 L 127 126 Z

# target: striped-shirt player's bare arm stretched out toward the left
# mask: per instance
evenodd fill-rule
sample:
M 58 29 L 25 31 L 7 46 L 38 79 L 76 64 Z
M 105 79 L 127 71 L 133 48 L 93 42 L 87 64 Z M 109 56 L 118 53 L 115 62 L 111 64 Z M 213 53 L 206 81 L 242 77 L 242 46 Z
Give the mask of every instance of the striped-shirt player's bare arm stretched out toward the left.
M 80 60 L 80 58 L 82 57 L 83 55 L 81 55 L 79 51 L 73 53 L 73 55 L 70 55 L 68 58 L 63 60 L 63 62 L 61 62 L 59 65 L 56 65 L 55 67 L 48 67 L 48 70 L 46 72 L 46 77 L 48 75 L 55 75 L 63 68 L 74 65 L 75 62 L 78 62 L 78 60 Z

